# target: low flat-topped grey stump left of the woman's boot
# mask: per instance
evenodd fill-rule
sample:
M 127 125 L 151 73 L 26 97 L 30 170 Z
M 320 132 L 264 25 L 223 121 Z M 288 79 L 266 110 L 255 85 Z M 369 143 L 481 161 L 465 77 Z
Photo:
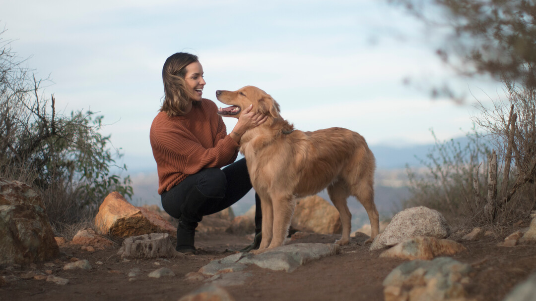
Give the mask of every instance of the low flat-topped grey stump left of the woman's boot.
M 169 234 L 151 233 L 131 236 L 123 241 L 118 255 L 122 258 L 176 258 L 185 257 L 173 247 Z

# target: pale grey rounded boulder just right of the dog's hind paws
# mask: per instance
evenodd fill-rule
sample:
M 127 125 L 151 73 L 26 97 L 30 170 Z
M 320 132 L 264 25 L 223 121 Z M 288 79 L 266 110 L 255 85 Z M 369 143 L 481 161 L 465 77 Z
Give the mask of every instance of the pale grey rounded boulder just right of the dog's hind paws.
M 382 234 L 370 245 L 370 251 L 396 245 L 414 236 L 445 238 L 449 225 L 441 213 L 424 206 L 413 207 L 394 215 Z

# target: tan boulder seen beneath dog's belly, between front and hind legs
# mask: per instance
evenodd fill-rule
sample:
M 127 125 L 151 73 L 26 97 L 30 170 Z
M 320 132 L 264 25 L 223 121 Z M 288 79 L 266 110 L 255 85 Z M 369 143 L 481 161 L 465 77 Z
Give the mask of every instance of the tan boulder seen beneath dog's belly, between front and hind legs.
M 297 201 L 291 227 L 319 234 L 340 234 L 343 230 L 339 211 L 316 195 Z

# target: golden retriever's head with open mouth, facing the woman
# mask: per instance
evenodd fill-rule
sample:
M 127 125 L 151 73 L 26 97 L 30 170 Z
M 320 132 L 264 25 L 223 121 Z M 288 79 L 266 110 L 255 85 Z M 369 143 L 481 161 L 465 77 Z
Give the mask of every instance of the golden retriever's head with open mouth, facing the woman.
M 253 105 L 252 111 L 269 115 L 273 118 L 279 117 L 279 104 L 265 91 L 254 87 L 245 86 L 236 91 L 216 91 L 218 101 L 230 105 L 225 109 L 218 109 L 218 114 L 224 117 L 239 118 L 240 114 L 248 106 Z

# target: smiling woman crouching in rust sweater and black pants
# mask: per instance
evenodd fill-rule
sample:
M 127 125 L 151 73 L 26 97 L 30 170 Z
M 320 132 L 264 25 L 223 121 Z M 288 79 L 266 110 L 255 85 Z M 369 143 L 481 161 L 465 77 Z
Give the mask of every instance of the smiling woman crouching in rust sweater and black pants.
M 170 56 L 162 68 L 162 79 L 165 98 L 150 132 L 158 193 L 163 209 L 178 219 L 175 249 L 194 254 L 195 229 L 203 216 L 226 209 L 251 189 L 245 159 L 233 162 L 241 136 L 266 117 L 248 107 L 227 135 L 218 107 L 202 98 L 203 66 L 190 53 Z M 261 214 L 257 195 L 255 199 L 254 245 L 258 248 Z

